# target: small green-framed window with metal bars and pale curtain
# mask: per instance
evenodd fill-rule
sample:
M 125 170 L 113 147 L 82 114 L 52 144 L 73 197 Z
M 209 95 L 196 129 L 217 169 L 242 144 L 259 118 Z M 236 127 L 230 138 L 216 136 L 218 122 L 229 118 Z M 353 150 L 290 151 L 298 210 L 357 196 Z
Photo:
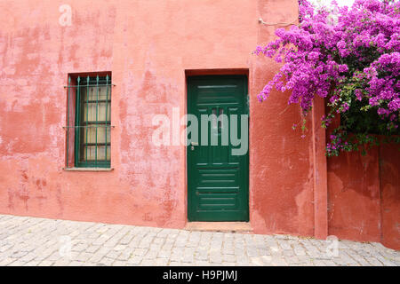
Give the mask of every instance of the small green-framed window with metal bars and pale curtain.
M 111 77 L 76 78 L 75 166 L 109 168 Z

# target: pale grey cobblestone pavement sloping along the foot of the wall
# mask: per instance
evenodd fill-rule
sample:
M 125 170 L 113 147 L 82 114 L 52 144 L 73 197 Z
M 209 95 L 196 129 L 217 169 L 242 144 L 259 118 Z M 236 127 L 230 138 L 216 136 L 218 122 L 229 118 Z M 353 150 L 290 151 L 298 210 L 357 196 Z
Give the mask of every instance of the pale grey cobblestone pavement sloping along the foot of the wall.
M 399 264 L 380 243 L 0 215 L 0 265 Z

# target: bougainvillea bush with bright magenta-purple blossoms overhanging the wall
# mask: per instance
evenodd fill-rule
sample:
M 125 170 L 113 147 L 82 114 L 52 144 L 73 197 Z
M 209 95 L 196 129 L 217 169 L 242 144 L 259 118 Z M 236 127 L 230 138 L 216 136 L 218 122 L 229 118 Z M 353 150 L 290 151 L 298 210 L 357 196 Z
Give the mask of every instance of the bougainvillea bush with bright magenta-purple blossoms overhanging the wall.
M 340 116 L 328 133 L 328 156 L 398 143 L 400 2 L 356 0 L 348 8 L 332 1 L 317 9 L 300 0 L 299 8 L 299 25 L 276 29 L 276 41 L 255 51 L 283 62 L 260 101 L 273 88 L 289 90 L 289 104 L 300 104 L 306 117 L 315 96 L 325 98 L 322 126 Z

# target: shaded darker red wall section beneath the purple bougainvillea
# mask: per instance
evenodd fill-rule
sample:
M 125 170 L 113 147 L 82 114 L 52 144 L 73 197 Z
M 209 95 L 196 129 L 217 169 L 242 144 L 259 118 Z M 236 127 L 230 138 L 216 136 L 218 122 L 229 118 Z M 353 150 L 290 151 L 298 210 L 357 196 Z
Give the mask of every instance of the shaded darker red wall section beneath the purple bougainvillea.
M 330 234 L 400 249 L 399 163 L 396 145 L 328 159 Z

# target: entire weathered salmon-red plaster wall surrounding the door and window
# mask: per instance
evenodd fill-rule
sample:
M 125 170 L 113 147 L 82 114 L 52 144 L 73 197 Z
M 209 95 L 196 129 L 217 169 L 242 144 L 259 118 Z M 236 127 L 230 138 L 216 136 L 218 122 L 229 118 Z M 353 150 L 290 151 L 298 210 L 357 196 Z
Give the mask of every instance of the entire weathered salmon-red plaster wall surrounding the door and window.
M 0 213 L 184 227 L 186 149 L 154 146 L 152 117 L 172 115 L 172 107 L 186 114 L 185 71 L 230 70 L 249 75 L 253 232 L 324 237 L 324 131 L 313 127 L 319 118 L 308 122 L 308 135 L 302 139 L 292 130 L 292 123 L 300 122 L 300 110 L 287 107 L 287 94 L 276 93 L 263 104 L 256 99 L 278 68 L 271 60 L 252 55 L 258 43 L 274 37 L 276 28 L 261 26 L 258 19 L 292 22 L 298 15 L 296 0 L 71 0 L 70 27 L 59 24 L 61 4 L 64 1 L 0 2 Z M 67 113 L 63 86 L 68 74 L 100 71 L 112 72 L 116 84 L 111 105 L 114 170 L 62 170 Z M 353 181 L 349 200 L 338 196 L 337 204 L 332 204 L 332 196 L 341 190 L 343 172 L 335 172 L 341 166 L 329 163 L 329 181 L 334 181 L 330 206 L 336 206 L 335 212 L 352 211 L 349 202 L 358 198 L 371 213 L 362 219 L 355 212 L 354 228 L 346 223 L 346 215 L 331 211 L 329 233 L 353 238 L 354 232 L 354 238 L 379 241 L 378 220 L 372 215 L 379 210 L 380 186 L 385 196 L 382 219 L 387 224 L 383 231 L 388 236 L 384 241 L 398 239 L 398 227 L 393 226 L 399 210 L 398 159 L 386 152 L 381 155 L 388 161 L 381 172 L 387 169 L 388 174 L 376 179 L 378 171 L 371 162 L 368 177 L 357 174 L 367 179 L 368 187 Z M 346 208 L 338 209 L 340 204 Z M 357 236 L 360 228 L 363 234 Z

